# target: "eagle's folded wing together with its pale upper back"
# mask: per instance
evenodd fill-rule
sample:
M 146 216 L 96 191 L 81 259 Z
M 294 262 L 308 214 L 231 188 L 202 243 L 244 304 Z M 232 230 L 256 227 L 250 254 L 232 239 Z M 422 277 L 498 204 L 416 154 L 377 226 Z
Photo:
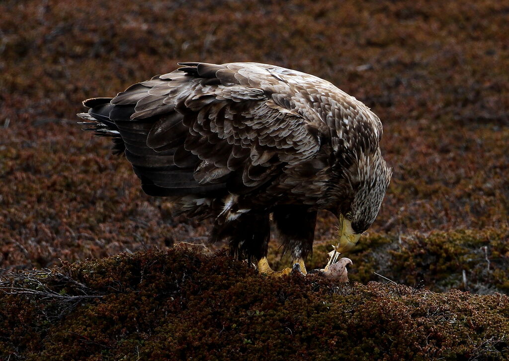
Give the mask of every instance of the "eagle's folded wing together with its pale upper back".
M 180 65 L 111 100 L 126 155 L 151 192 L 231 190 L 233 180 L 259 187 L 312 160 L 322 137 L 334 148 L 343 129 L 372 122 L 362 103 L 313 75 L 257 63 Z

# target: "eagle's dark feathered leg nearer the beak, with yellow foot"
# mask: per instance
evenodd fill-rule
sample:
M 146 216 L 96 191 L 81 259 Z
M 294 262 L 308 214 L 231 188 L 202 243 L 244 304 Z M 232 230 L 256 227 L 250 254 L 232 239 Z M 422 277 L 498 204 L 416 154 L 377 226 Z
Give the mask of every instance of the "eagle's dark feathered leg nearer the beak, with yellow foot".
M 317 212 L 306 206 L 281 205 L 273 212 L 274 222 L 281 237 L 283 252 L 290 253 L 292 264 L 298 264 L 306 273 L 305 259 L 313 252 Z

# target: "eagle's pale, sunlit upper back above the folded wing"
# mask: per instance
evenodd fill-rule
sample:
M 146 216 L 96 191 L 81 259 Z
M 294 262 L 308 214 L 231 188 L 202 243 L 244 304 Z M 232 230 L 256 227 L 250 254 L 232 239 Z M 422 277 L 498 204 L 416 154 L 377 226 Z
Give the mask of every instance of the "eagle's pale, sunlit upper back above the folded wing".
M 382 123 L 369 107 L 318 76 L 260 63 L 203 67 L 210 73 L 214 69 L 222 84 L 262 90 L 270 106 L 298 115 L 333 137 L 359 129 L 378 141 L 382 137 Z

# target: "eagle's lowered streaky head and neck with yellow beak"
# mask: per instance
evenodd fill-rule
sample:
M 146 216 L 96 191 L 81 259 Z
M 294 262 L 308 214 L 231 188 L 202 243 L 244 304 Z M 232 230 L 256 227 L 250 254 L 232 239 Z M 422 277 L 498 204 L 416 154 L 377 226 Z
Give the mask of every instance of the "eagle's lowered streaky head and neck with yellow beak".
M 342 176 L 336 187 L 339 200 L 336 251 L 346 252 L 375 221 L 392 169 L 383 159 L 377 141 L 371 147 L 344 148 L 341 159 Z

